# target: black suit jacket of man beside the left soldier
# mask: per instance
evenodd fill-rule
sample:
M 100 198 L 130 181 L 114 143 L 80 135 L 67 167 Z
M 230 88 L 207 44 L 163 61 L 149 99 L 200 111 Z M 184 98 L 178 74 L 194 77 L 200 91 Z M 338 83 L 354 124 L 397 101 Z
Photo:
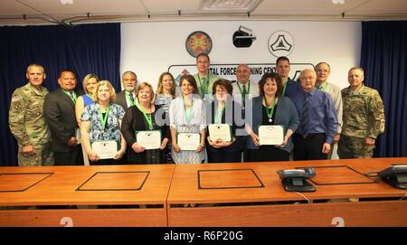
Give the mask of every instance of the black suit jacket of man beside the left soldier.
M 80 90 L 75 90 L 75 93 L 77 98 L 83 94 Z M 53 90 L 45 96 L 43 116 L 51 129 L 52 151 L 71 151 L 73 146 L 68 146 L 66 143 L 71 137 L 75 137 L 75 131 L 78 128 L 75 105 L 71 98 L 61 89 Z

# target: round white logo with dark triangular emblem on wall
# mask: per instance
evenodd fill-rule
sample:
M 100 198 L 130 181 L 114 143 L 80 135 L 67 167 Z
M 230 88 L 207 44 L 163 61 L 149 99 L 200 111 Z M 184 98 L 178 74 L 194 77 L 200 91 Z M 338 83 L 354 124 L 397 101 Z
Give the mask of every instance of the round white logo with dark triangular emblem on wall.
M 269 50 L 276 57 L 289 56 L 294 49 L 294 39 L 286 31 L 272 33 L 269 39 Z

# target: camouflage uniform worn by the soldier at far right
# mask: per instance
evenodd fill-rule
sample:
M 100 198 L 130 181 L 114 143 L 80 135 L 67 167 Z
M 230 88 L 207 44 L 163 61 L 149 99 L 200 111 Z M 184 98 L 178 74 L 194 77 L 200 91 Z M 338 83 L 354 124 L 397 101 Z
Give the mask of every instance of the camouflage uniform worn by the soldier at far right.
M 357 91 L 342 90 L 344 103 L 340 158 L 371 158 L 374 145 L 365 144 L 366 137 L 376 138 L 384 131 L 383 101 L 377 90 L 365 87 Z

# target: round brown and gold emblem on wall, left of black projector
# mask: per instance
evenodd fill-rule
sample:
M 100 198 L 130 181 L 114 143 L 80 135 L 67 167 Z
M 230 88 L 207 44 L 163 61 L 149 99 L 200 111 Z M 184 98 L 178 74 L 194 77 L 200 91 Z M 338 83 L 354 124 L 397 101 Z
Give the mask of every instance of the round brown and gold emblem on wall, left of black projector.
M 186 38 L 185 48 L 194 58 L 203 52 L 209 54 L 212 50 L 212 39 L 207 33 L 196 31 Z

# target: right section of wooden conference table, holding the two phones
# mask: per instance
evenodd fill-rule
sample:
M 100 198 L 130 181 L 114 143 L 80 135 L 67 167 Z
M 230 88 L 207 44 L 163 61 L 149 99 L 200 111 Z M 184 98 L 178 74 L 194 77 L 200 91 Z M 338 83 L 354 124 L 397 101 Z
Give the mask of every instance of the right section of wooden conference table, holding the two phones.
M 407 226 L 407 201 L 399 201 L 406 190 L 363 175 L 400 163 L 407 158 L 177 165 L 167 199 L 168 225 Z M 317 191 L 285 192 L 276 172 L 307 166 L 316 167 Z

